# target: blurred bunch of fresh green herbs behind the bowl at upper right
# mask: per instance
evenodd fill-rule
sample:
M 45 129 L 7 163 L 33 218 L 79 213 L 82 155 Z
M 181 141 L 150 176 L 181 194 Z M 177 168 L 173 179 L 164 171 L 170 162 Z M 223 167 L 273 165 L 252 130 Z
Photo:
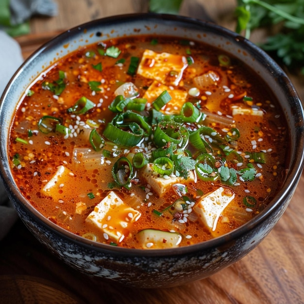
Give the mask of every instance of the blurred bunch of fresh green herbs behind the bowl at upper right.
M 280 26 L 260 47 L 304 74 L 304 0 L 237 0 L 236 32 L 250 38 L 256 28 Z

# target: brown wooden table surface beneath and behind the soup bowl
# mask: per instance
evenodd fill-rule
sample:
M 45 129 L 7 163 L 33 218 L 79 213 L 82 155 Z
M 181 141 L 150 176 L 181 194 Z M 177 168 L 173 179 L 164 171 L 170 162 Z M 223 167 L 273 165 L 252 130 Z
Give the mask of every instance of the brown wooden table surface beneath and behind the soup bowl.
M 198 3 L 194 3 L 194 1 Z M 64 29 L 94 18 L 132 13 L 145 0 L 62 0 L 56 17 L 35 17 L 31 34 L 17 38 L 24 57 Z M 182 13 L 203 16 L 234 29 L 234 0 L 185 0 Z M 189 11 L 190 4 L 197 9 Z M 194 12 L 194 13 L 193 13 Z M 197 16 L 197 15 L 200 16 Z M 254 40 L 254 37 L 253 37 Z M 291 75 L 302 100 L 303 79 Z M 0 242 L 0 302 L 13 292 L 11 303 L 132 303 L 132 304 L 300 304 L 304 303 L 304 175 L 287 211 L 270 235 L 242 260 L 215 275 L 186 286 L 134 289 L 88 278 L 52 256 L 18 220 Z M 21 295 L 26 293 L 26 298 Z M 42 294 L 44 296 L 42 296 Z M 44 297 L 41 302 L 39 299 Z M 21 298 L 28 301 L 21 301 Z M 51 298 L 52 301 L 47 301 Z M 61 298 L 63 299 L 63 298 Z M 4 302 L 2 302 L 2 301 Z M 19 301 L 19 302 L 18 302 Z

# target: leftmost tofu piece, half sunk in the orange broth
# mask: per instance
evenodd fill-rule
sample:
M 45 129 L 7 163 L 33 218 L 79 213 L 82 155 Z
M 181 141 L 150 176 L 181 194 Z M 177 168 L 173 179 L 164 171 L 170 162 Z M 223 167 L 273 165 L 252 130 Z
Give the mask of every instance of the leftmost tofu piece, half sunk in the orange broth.
M 51 180 L 42 188 L 43 194 L 51 196 L 55 201 L 59 201 L 65 196 L 65 189 L 73 183 L 74 174 L 64 166 L 58 166 L 56 173 Z

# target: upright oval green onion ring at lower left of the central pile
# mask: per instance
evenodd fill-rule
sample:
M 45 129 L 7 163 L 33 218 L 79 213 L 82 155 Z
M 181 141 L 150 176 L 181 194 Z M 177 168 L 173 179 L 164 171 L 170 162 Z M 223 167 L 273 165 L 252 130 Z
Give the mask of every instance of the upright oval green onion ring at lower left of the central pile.
M 112 176 L 118 186 L 128 187 L 133 178 L 133 166 L 127 157 L 120 157 L 112 168 Z

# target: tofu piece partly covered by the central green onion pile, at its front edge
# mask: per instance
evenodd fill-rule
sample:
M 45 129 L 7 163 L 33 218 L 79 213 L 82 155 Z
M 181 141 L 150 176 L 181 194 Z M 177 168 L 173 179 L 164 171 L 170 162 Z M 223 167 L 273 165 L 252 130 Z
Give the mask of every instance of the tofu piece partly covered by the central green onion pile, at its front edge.
M 152 187 L 153 191 L 159 196 L 162 197 L 165 192 L 174 184 L 187 184 L 194 181 L 194 174 L 192 171 L 189 171 L 187 179 L 183 177 L 172 177 L 164 178 L 160 176 L 157 172 L 152 169 L 152 164 L 147 164 L 144 170 L 142 171 L 142 176 L 145 178 L 146 182 Z

